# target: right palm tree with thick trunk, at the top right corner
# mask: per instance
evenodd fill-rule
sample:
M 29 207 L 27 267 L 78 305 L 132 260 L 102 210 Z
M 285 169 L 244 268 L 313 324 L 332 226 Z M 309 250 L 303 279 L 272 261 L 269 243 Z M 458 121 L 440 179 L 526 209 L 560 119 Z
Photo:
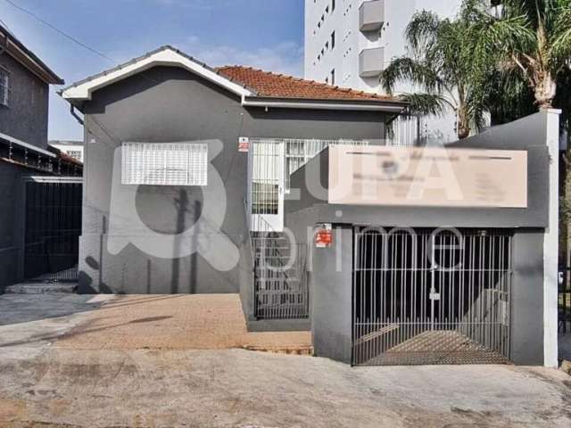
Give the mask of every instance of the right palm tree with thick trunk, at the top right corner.
M 474 22 L 476 52 L 490 52 L 514 93 L 533 92 L 539 109 L 550 109 L 558 78 L 571 59 L 571 0 L 503 0 L 494 14 L 485 0 L 467 0 L 464 13 Z M 469 17 L 469 18 L 468 18 Z M 509 81 L 509 77 L 516 77 Z

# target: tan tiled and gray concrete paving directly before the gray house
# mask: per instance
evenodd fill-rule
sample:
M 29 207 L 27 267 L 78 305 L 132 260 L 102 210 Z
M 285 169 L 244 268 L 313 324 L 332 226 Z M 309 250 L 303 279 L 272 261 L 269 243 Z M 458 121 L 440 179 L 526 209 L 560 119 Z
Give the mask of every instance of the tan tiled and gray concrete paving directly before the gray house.
M 308 350 L 309 332 L 250 333 L 237 294 L 0 296 L 0 346 Z

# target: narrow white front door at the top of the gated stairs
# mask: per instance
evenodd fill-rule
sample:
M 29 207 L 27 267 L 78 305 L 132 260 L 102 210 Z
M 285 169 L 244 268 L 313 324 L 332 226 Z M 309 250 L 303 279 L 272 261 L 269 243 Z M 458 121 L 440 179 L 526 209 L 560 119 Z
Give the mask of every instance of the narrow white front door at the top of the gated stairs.
M 252 142 L 252 231 L 284 230 L 284 147 L 279 139 Z

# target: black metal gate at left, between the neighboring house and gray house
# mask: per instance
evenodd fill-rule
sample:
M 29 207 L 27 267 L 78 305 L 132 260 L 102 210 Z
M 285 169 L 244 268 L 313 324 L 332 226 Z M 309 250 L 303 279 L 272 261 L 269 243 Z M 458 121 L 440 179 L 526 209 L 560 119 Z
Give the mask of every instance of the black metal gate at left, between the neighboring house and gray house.
M 25 181 L 24 278 L 78 279 L 81 178 L 29 177 Z

